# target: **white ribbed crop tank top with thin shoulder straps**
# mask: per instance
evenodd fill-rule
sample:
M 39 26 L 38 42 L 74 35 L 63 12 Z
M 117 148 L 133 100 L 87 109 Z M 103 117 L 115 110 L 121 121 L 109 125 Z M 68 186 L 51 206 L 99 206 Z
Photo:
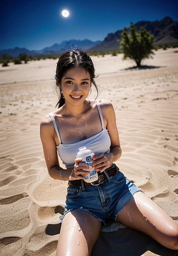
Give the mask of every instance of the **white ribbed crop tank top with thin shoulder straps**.
M 58 151 L 60 159 L 62 160 L 66 168 L 73 167 L 79 147 L 85 146 L 87 149 L 90 149 L 95 154 L 98 154 L 98 153 L 104 154 L 106 152 L 109 152 L 110 150 L 111 139 L 108 134 L 108 130 L 104 128 L 103 116 L 101 113 L 99 102 L 98 101 L 96 102 L 97 102 L 98 112 L 99 112 L 101 123 L 102 123 L 102 130 L 87 139 L 70 143 L 70 144 L 61 143 L 55 118 L 52 113 L 49 113 L 49 116 L 52 119 L 55 131 L 60 143 L 58 146 L 56 146 L 56 149 Z

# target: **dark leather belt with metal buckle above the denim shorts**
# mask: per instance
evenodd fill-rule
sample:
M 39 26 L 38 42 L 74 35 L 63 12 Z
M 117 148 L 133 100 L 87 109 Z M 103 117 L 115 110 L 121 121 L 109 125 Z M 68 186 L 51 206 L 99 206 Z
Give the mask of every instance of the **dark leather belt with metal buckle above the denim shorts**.
M 85 187 L 98 186 L 98 185 L 102 184 L 103 182 L 108 181 L 108 178 L 107 178 L 105 172 L 107 172 L 108 176 L 111 177 L 111 176 L 114 176 L 117 171 L 119 171 L 119 168 L 115 164 L 112 164 L 112 166 L 107 168 L 104 172 L 102 172 L 102 173 L 98 172 L 98 179 L 96 181 L 87 183 L 83 179 L 70 180 L 69 185 L 74 186 L 74 187 L 81 187 L 82 183 L 83 183 Z

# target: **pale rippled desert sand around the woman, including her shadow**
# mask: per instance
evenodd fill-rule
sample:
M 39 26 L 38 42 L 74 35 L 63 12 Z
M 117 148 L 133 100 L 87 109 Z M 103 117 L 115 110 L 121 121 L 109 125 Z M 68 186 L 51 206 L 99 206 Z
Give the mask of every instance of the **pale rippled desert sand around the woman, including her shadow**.
M 120 170 L 178 224 L 178 49 L 158 50 L 145 69 L 123 55 L 94 57 L 99 99 L 112 101 Z M 39 136 L 53 111 L 57 60 L 0 67 L 0 255 L 54 256 L 67 182 L 53 180 Z M 95 97 L 93 90 L 90 98 Z M 108 232 L 115 230 L 113 232 Z M 92 256 L 178 255 L 152 238 L 108 222 Z

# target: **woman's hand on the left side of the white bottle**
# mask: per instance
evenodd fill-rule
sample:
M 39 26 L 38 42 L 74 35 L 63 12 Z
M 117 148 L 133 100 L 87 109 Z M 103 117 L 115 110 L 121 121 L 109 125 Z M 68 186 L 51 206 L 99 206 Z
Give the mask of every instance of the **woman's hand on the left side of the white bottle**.
M 83 176 L 87 176 L 89 174 L 89 166 L 85 163 L 81 163 L 82 158 L 75 159 L 75 165 L 73 168 L 72 179 L 80 180 L 83 179 Z

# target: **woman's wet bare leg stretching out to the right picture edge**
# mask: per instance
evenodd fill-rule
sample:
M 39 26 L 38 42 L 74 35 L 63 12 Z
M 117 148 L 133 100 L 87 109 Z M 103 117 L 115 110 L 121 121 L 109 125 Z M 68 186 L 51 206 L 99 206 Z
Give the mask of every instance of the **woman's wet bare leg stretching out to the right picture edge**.
M 139 230 L 161 245 L 178 250 L 178 226 L 155 202 L 136 192 L 117 215 L 124 225 Z

